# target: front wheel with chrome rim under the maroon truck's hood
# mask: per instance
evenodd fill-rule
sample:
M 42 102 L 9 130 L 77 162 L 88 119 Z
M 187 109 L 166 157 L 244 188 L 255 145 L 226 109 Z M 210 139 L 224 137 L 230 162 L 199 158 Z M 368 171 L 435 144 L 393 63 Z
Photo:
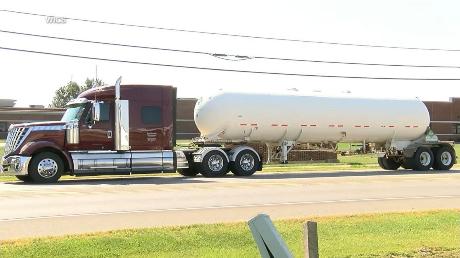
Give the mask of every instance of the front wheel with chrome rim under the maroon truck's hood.
M 42 161 L 44 163 L 41 163 Z M 52 169 L 52 172 L 50 172 L 49 177 L 45 177 L 42 175 L 46 175 L 46 171 L 39 171 L 38 166 L 40 164 L 42 164 L 43 167 Z M 30 178 L 32 178 L 35 183 L 44 184 L 56 182 L 59 178 L 61 178 L 63 172 L 64 163 L 61 157 L 52 152 L 42 152 L 38 155 L 35 155 L 34 157 L 32 157 L 29 163 L 28 173 Z

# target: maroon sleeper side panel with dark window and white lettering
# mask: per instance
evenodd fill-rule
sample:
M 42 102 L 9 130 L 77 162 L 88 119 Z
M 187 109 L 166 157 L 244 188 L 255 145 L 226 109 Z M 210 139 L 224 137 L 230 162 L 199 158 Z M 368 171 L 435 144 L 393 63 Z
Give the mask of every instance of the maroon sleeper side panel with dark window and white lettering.
M 163 149 L 163 102 L 129 102 L 129 145 L 132 150 Z

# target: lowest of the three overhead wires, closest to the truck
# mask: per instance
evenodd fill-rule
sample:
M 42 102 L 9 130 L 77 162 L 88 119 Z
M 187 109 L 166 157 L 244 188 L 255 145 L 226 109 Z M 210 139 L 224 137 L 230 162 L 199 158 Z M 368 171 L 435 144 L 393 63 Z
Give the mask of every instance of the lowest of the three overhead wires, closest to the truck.
M 49 53 L 49 52 L 40 52 L 40 51 L 33 51 L 33 50 L 23 50 L 23 49 L 14 49 L 14 48 L 7 48 L 7 47 L 0 47 L 0 49 L 4 50 L 14 50 L 14 51 L 22 51 L 22 52 L 29 52 L 29 53 L 36 53 L 36 54 L 45 54 L 45 55 L 53 55 L 53 56 L 66 56 L 66 57 L 77 57 L 77 58 L 84 58 L 84 59 L 92 59 L 92 60 L 102 60 L 102 61 L 110 61 L 110 62 L 123 62 L 123 63 L 132 63 L 132 64 L 144 64 L 144 65 L 155 65 L 155 66 L 165 66 L 165 67 L 180 67 L 180 68 L 191 68 L 191 69 L 202 69 L 202 70 L 212 70 L 212 71 L 225 71 L 225 72 L 239 72 L 239 73 L 260 73 L 260 74 L 276 74 L 276 75 L 292 75 L 292 76 L 311 76 L 311 77 L 329 77 L 329 78 L 353 78 L 353 79 L 388 79 L 388 80 L 460 80 L 460 79 L 445 79 L 445 78 L 381 78 L 381 77 L 356 77 L 356 76 L 334 76 L 334 75 L 316 75 L 316 74 L 302 74 L 302 73 L 271 73 L 271 72 L 260 72 L 260 71 L 244 71 L 244 70 L 230 70 L 230 69 L 219 69 L 219 68 L 209 68 L 209 67 L 193 67 L 193 66 L 180 66 L 180 65 L 170 65 L 170 64 L 158 64 L 158 63 L 148 63 L 148 62 L 134 62 L 134 61 L 125 61 L 125 60 L 116 60 L 116 59 L 107 59 L 107 58 L 97 58 L 97 57 L 89 57 L 89 56 L 73 56 L 73 55 L 65 55 L 65 54 L 57 54 L 57 53 Z

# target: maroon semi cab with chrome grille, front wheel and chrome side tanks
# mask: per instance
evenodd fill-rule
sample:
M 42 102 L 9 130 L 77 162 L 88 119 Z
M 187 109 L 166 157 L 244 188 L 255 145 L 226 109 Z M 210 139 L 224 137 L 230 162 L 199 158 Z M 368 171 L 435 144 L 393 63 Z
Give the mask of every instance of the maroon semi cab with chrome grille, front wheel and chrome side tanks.
M 176 89 L 92 88 L 69 101 L 61 121 L 12 125 L 1 174 L 52 182 L 62 174 L 137 174 L 188 168 L 176 141 Z

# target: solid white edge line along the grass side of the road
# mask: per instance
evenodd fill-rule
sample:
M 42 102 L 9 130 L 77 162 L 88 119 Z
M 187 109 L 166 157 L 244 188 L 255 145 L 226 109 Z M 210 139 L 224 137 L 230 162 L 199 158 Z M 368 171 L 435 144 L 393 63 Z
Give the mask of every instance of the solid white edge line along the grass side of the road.
M 281 206 L 281 205 L 314 204 L 314 203 L 368 202 L 368 201 L 391 201 L 391 200 L 458 198 L 458 197 L 460 197 L 460 195 L 370 198 L 370 199 L 351 199 L 351 200 L 313 201 L 313 202 L 281 202 L 281 203 L 245 204 L 245 205 L 229 205 L 229 206 L 210 206 L 210 207 L 195 207 L 195 208 L 170 208 L 170 209 L 155 209 L 155 210 L 140 210 L 140 211 L 53 215 L 53 216 L 29 217 L 29 218 L 18 218 L 18 219 L 0 219 L 0 222 L 18 221 L 18 220 L 31 220 L 31 219 L 52 219 L 52 218 L 81 217 L 81 216 L 93 216 L 93 215 L 125 214 L 125 213 L 146 213 L 146 212 L 165 212 L 165 211 L 205 210 L 205 209 L 219 209 L 219 208 L 246 208 L 246 207 L 263 207 L 263 206 Z

